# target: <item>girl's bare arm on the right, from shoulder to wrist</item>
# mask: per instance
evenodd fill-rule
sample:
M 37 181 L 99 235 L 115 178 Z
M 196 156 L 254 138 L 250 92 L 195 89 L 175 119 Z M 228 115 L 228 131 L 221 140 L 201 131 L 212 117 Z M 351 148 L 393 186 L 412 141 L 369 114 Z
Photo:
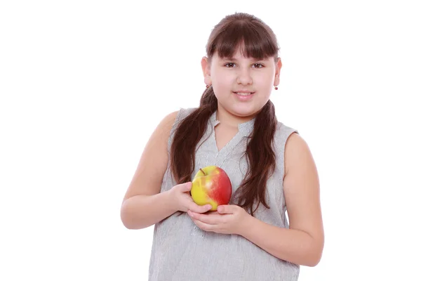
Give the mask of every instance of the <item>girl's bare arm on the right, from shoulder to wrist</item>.
M 300 135 L 288 138 L 283 192 L 290 228 L 270 226 L 247 216 L 241 235 L 279 259 L 316 266 L 324 244 L 319 176 L 311 152 Z

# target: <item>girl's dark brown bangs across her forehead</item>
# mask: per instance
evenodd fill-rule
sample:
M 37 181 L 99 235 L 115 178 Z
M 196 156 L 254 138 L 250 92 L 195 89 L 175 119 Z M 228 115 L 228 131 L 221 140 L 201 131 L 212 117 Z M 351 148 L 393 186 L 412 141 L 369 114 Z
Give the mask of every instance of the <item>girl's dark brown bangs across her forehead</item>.
M 217 53 L 221 58 L 232 58 L 240 48 L 246 58 L 258 60 L 278 55 L 279 47 L 274 34 L 270 34 L 258 22 L 236 21 L 222 28 L 208 50 L 208 55 Z

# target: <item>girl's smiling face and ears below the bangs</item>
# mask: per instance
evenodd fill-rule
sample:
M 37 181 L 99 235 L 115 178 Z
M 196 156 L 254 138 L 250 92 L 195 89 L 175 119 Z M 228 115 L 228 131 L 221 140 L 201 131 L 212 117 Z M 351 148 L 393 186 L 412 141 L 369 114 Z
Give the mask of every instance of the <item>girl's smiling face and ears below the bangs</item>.
M 233 58 L 213 55 L 212 61 L 202 60 L 205 83 L 213 86 L 218 110 L 241 119 L 251 119 L 269 100 L 279 84 L 281 60 L 246 58 L 239 50 Z M 221 108 L 222 107 L 222 108 Z

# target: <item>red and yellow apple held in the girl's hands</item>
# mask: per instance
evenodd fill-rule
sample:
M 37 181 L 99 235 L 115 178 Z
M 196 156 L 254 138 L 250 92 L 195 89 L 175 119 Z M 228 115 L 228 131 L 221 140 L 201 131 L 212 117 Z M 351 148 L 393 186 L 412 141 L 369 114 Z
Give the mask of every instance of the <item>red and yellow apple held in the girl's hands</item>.
M 211 211 L 231 200 L 232 185 L 227 173 L 218 166 L 206 166 L 196 173 L 190 190 L 193 201 L 200 205 L 211 204 Z

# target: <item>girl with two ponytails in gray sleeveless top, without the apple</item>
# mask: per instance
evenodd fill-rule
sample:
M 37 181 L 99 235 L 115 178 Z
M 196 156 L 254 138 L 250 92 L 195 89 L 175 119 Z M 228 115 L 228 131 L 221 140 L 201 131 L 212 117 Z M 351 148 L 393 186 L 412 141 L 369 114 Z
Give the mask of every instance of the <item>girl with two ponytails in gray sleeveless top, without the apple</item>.
M 169 114 L 152 133 L 121 207 L 126 228 L 155 225 L 149 280 L 298 280 L 300 265 L 319 263 L 316 166 L 269 100 L 278 51 L 260 19 L 228 15 L 201 62 L 200 106 Z M 189 193 L 192 176 L 210 165 L 232 182 L 232 200 L 218 211 Z

